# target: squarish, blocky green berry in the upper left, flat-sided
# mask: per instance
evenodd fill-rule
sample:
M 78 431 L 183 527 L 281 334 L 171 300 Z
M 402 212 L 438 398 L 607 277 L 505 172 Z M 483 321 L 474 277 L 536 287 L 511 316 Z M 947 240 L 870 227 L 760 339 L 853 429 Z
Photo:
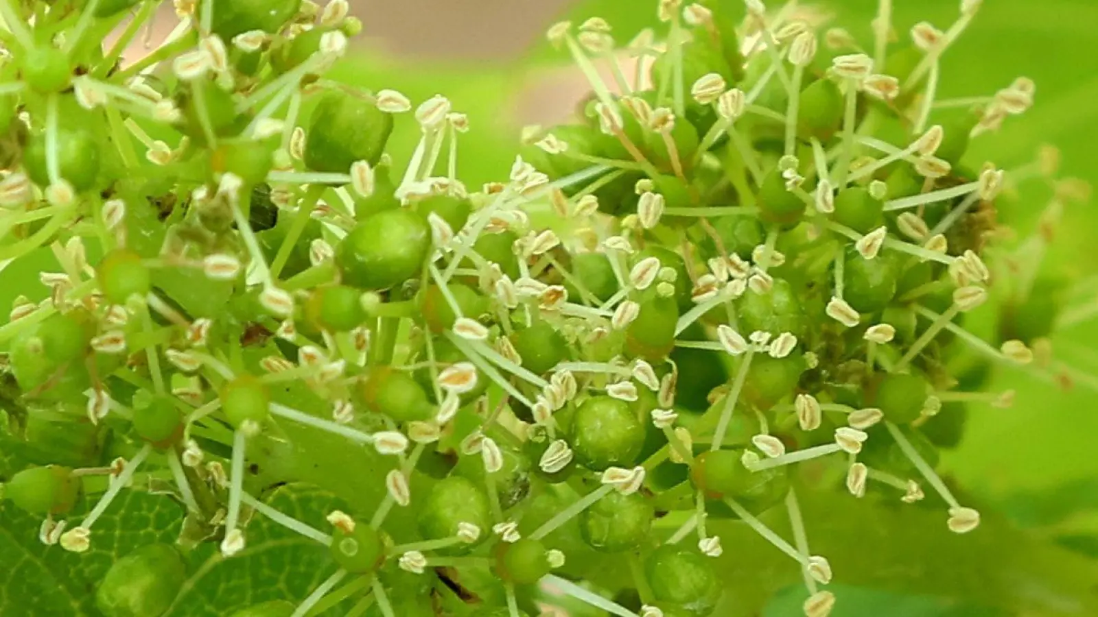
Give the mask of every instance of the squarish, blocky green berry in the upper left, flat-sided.
M 310 119 L 305 165 L 340 173 L 357 160 L 378 165 L 392 131 L 393 116 L 373 101 L 343 91 L 328 92 Z

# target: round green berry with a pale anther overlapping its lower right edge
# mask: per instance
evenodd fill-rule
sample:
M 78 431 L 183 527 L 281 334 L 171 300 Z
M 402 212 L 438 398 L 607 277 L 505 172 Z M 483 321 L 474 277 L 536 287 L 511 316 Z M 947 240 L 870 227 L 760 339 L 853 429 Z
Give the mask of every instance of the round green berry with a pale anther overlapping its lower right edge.
M 492 516 L 489 512 L 488 495 L 471 481 L 451 475 L 439 480 L 427 494 L 423 509 L 419 511 L 419 534 L 428 540 L 452 538 L 458 535 L 462 523 L 475 525 L 484 538 L 492 528 Z M 457 552 L 458 545 L 450 550 Z

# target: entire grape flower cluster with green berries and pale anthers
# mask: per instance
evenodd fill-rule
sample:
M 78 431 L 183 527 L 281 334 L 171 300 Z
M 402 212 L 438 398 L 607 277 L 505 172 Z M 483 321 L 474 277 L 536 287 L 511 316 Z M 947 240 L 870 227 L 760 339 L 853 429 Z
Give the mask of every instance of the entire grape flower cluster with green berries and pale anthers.
M 392 617 L 423 593 L 393 572 L 441 569 L 459 585 L 462 569 L 495 573 L 502 599 L 478 615 L 538 610 L 551 588 L 623 617 L 704 616 L 722 593 L 707 521 L 732 519 L 799 564 L 804 612 L 824 617 L 831 569 L 797 492 L 911 503 L 925 483 L 949 528 L 973 531 L 979 513 L 934 468 L 965 405 L 1010 404 L 979 392 L 988 366 L 1083 377 L 1046 337 L 1093 312 L 1034 302 L 1031 258 L 1078 187 L 1053 178 L 1052 150 L 964 162 L 1033 83 L 935 98 L 978 0 L 909 41 L 881 0 L 869 52 L 760 0 L 746 15 L 662 0 L 666 36 L 624 53 L 604 20 L 557 24 L 593 97 L 574 123 L 525 131 L 509 178 L 479 192 L 457 178 L 468 122 L 446 98 L 321 78 L 359 27 L 346 0 L 177 2 L 175 31 L 122 67 L 157 9 L 139 4 L 104 52 L 131 4 L 0 1 L 0 260 L 48 246 L 63 268 L 0 326 L 9 419 L 97 461 L 9 479 L 48 545 L 86 551 L 144 470 L 227 558 L 253 514 L 329 547 L 338 569 L 294 616 L 349 576 L 352 614 Z M 422 137 L 391 177 L 394 121 Z M 1056 198 L 1009 255 L 995 201 L 1029 179 Z M 962 325 L 993 281 L 995 344 Z M 341 470 L 378 474 L 373 512 L 322 530 L 264 502 L 249 462 L 305 430 L 376 452 Z M 104 464 L 108 434 L 124 455 Z M 776 506 L 792 541 L 763 520 Z M 386 525 L 394 508 L 411 537 Z M 569 528 L 632 565 L 631 594 L 578 584 Z

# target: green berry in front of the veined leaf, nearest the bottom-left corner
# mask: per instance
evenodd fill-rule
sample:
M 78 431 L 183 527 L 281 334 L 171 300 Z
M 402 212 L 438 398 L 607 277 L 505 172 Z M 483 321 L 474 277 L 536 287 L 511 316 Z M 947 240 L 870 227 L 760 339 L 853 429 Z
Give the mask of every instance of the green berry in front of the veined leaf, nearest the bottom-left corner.
M 96 591 L 104 617 L 158 617 L 187 580 L 187 565 L 168 545 L 147 545 L 114 562 Z

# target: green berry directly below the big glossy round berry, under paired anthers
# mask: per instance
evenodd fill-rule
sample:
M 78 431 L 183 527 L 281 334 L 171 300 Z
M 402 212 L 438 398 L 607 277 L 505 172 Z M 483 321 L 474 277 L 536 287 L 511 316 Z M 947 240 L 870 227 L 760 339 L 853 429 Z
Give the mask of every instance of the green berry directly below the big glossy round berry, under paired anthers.
M 643 543 L 654 519 L 654 508 L 639 493 L 615 491 L 580 514 L 580 534 L 595 550 L 620 552 Z

